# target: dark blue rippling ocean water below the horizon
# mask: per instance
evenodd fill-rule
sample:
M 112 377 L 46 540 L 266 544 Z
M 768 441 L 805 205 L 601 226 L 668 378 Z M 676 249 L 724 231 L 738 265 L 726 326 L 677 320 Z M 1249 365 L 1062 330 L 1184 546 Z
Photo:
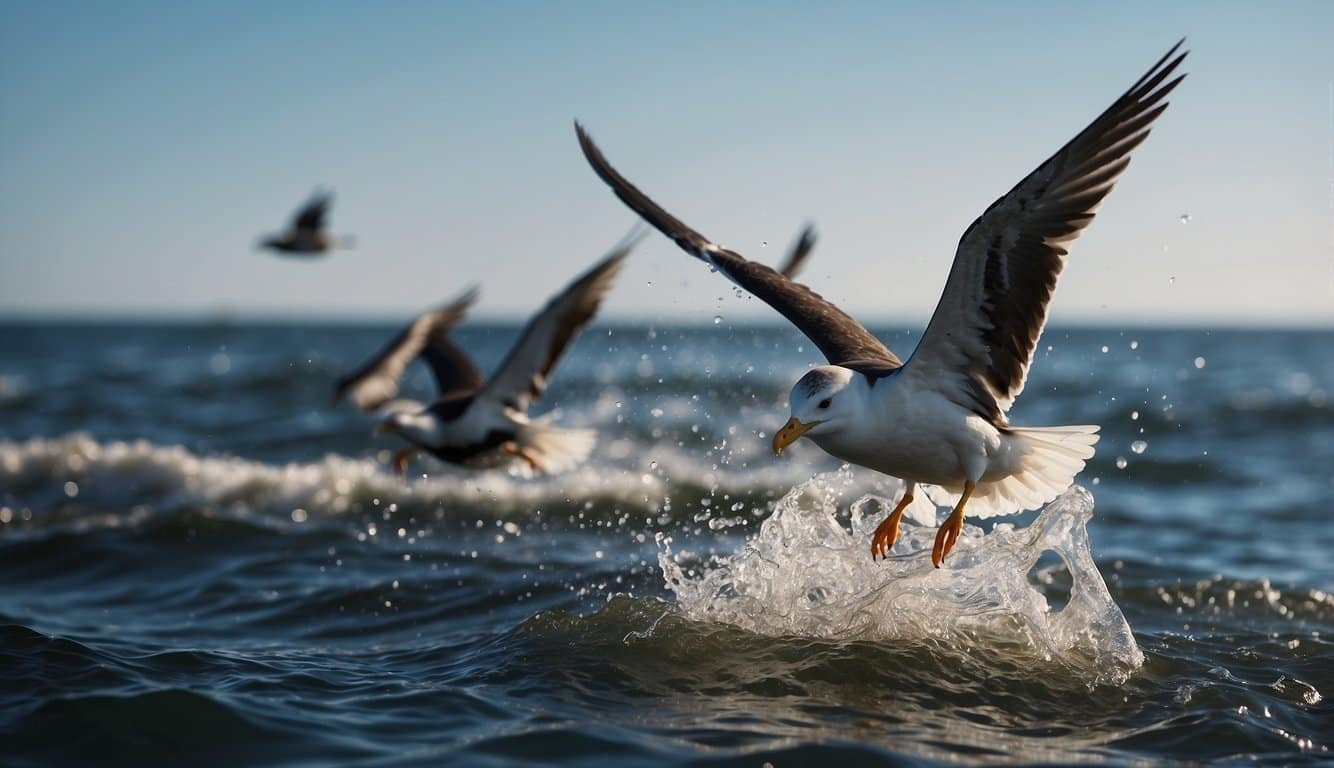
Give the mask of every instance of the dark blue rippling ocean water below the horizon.
M 0 764 L 1331 760 L 1334 333 L 1049 329 L 1013 419 L 1098 456 L 935 571 L 768 451 L 795 332 L 595 327 L 588 464 L 403 481 L 328 403 L 392 331 L 0 325 Z

